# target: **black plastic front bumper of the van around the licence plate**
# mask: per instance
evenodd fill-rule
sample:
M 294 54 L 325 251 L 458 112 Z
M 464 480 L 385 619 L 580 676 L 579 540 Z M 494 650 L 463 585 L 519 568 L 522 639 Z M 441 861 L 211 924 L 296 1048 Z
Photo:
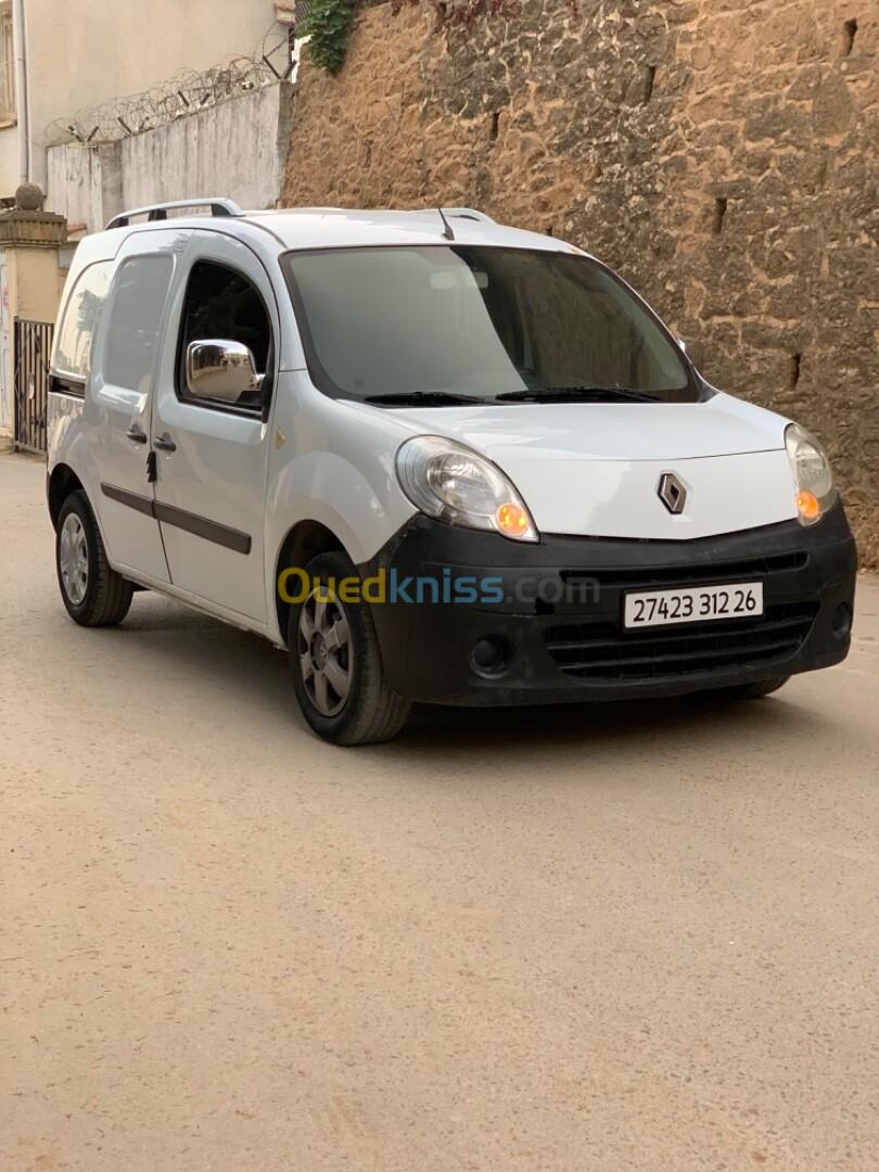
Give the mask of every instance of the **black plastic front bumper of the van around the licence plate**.
M 440 584 L 422 587 L 421 604 L 373 606 L 396 691 L 503 706 L 680 695 L 838 663 L 851 641 L 857 551 L 841 505 L 810 529 L 792 520 L 694 541 L 518 545 L 417 517 L 360 570 L 402 582 L 402 597 L 417 597 L 420 577 Z M 471 581 L 484 579 L 478 601 L 442 601 L 471 598 Z M 624 631 L 633 590 L 748 581 L 763 582 L 758 619 Z M 485 639 L 499 657 L 488 670 L 473 662 Z

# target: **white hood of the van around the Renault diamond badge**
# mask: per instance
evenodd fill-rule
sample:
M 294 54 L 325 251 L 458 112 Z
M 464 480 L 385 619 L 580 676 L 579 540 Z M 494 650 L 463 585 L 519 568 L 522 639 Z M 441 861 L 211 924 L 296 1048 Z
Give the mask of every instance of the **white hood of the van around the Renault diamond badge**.
M 541 533 L 690 540 L 797 516 L 788 421 L 729 395 L 389 414 L 411 434 L 457 440 L 498 464 Z M 677 513 L 660 495 L 667 473 L 686 492 Z

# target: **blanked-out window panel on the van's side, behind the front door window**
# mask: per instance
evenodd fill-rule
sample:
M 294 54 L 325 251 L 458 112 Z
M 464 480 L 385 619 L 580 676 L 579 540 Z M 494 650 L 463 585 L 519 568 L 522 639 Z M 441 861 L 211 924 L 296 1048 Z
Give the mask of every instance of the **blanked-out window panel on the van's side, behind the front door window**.
M 172 272 L 170 257 L 131 257 L 121 265 L 107 327 L 104 382 L 149 391 Z

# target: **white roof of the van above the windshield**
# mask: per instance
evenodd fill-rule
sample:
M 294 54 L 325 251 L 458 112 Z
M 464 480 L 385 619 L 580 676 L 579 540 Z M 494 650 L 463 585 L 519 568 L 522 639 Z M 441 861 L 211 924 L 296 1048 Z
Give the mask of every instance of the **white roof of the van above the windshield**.
M 445 217 L 445 219 L 443 219 Z M 452 243 L 445 234 L 451 227 L 455 241 L 510 248 L 539 248 L 548 252 L 575 252 L 580 248 L 553 237 L 496 224 L 471 209 L 425 209 L 420 211 L 375 211 L 345 207 L 297 207 L 277 211 L 248 211 L 227 216 L 175 216 L 130 224 L 86 237 L 102 239 L 103 247 L 124 239 L 132 232 L 189 229 L 223 232 L 252 240 L 261 237 L 265 246 L 274 241 L 274 251 L 305 248 L 380 247 L 389 245 L 431 245 Z M 257 232 L 254 233 L 254 229 Z M 91 250 L 89 250 L 91 251 Z M 96 248 L 96 251 L 101 251 Z

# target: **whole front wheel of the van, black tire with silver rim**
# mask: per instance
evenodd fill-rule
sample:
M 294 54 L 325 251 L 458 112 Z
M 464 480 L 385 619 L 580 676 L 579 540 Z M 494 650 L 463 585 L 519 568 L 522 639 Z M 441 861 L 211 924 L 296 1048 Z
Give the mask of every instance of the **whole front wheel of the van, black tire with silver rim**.
M 321 553 L 306 566 L 309 581 L 357 579 L 345 553 Z M 339 745 L 393 740 L 407 722 L 411 701 L 384 679 L 375 622 L 368 602 L 321 602 L 312 590 L 289 609 L 287 650 L 293 688 L 308 724 Z M 322 682 L 321 682 L 322 681 Z

